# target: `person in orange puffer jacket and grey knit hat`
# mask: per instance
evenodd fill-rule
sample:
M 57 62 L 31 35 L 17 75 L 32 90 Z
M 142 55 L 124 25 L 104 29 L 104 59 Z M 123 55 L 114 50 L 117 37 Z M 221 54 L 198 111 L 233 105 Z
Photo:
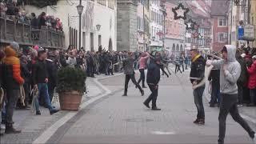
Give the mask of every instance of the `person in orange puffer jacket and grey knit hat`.
M 21 76 L 21 66 L 18 59 L 19 46 L 17 42 L 11 42 L 10 46 L 6 46 L 4 52 L 6 57 L 2 60 L 2 86 L 6 91 L 6 134 L 21 133 L 21 130 L 14 129 L 13 115 L 18 95 L 20 94 L 20 86 L 24 83 Z

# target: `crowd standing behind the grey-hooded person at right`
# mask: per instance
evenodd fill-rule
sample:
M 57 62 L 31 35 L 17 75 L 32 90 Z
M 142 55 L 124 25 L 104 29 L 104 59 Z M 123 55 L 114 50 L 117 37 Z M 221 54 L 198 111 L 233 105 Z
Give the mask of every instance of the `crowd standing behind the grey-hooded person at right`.
M 220 57 L 220 54 L 215 53 Z M 250 49 L 238 49 L 236 59 L 241 66 L 241 74 L 238 78 L 238 106 L 256 106 L 256 53 Z M 208 57 L 209 59 L 216 59 Z M 210 107 L 220 105 L 220 70 L 214 67 L 208 79 L 211 86 Z

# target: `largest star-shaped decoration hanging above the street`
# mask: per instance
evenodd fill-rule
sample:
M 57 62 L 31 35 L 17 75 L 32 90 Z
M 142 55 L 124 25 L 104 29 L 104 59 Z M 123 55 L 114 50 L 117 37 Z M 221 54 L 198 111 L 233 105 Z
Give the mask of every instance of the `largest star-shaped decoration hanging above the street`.
M 184 19 L 186 20 L 186 14 L 190 11 L 190 9 L 185 8 L 182 3 L 178 4 L 178 7 L 172 8 L 172 11 L 174 12 L 174 19 Z

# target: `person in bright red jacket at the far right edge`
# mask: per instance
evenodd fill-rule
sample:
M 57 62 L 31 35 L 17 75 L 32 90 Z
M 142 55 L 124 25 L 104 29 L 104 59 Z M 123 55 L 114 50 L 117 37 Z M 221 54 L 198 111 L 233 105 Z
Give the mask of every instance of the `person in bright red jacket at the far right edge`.
M 248 106 L 255 106 L 256 99 L 256 55 L 253 56 L 253 64 L 247 68 L 249 74 L 248 88 L 250 89 L 250 104 Z

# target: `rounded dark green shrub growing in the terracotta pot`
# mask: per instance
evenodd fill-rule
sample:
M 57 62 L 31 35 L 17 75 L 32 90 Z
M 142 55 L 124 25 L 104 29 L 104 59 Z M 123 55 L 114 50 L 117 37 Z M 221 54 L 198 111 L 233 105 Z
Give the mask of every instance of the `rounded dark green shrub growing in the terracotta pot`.
M 86 92 L 86 72 L 66 66 L 58 71 L 58 85 L 57 92 L 78 91 L 80 93 Z

